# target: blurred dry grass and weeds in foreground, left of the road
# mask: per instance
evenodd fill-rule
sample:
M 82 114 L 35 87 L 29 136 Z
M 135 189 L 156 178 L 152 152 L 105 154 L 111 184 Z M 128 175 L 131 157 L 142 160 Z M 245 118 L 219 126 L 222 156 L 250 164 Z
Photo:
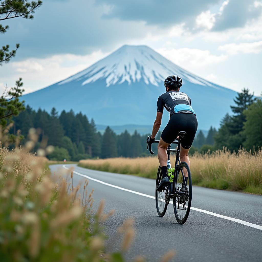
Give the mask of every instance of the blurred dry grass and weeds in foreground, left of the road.
M 116 232 L 115 239 L 123 239 L 119 251 L 108 251 L 102 223 L 114 211 L 105 214 L 102 201 L 94 214 L 94 190 L 88 189 L 88 181 L 73 185 L 71 170 L 54 179 L 44 157 L 51 148 L 30 154 L 38 139 L 34 129 L 29 137 L 25 148 L 12 151 L 0 142 L 0 260 L 124 261 L 134 239 L 134 221 L 126 220 Z M 5 138 L 0 133 L 6 144 Z

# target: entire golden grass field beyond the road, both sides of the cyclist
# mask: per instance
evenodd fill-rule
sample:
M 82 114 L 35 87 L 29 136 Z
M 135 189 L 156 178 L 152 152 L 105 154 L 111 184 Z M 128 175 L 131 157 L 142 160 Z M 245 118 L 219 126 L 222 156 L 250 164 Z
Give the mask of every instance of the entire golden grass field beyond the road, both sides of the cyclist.
M 173 166 L 174 155 L 171 156 L 171 163 Z M 261 150 L 255 153 L 239 150 L 237 154 L 231 154 L 227 150 L 217 150 L 204 155 L 195 153 L 190 157 L 190 163 L 195 185 L 262 194 Z M 118 157 L 80 160 L 79 166 L 155 179 L 159 162 L 157 157 Z

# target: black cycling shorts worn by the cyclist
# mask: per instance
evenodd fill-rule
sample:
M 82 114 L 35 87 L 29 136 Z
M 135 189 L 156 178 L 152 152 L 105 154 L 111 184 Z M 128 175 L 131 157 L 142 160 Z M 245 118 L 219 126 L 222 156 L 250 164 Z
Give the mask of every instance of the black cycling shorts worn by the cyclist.
M 161 134 L 161 138 L 167 144 L 171 144 L 180 131 L 187 132 L 185 138 L 182 139 L 181 145 L 188 149 L 193 143 L 197 130 L 197 119 L 195 114 L 176 113 L 170 116 L 169 122 Z

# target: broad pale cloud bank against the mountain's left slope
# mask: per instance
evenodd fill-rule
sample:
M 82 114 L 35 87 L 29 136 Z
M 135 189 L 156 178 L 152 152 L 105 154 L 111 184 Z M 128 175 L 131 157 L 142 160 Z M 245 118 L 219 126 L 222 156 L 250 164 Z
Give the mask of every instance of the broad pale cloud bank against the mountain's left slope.
M 42 59 L 30 58 L 20 62 L 10 62 L 2 69 L 2 72 L 6 71 L 4 72 L 6 77 L 2 77 L 1 81 L 12 86 L 21 77 L 25 93 L 30 93 L 78 73 L 106 55 L 107 53 L 99 50 L 86 56 L 62 54 Z M 0 83 L 0 90 L 4 86 Z

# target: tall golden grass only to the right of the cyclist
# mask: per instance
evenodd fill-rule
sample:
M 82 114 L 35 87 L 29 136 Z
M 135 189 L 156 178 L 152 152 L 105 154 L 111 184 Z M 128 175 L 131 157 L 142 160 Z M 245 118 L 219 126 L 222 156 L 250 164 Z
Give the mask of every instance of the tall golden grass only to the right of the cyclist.
M 191 160 L 193 182 L 199 185 L 262 194 L 262 150 L 241 149 L 194 154 Z

